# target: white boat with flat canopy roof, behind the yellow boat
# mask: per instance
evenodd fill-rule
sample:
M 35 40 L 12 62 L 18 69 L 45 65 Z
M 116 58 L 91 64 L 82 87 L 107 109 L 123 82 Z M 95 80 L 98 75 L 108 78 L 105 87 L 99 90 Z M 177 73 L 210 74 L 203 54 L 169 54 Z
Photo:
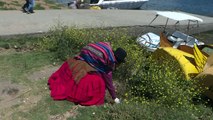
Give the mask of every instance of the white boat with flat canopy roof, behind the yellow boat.
M 196 26 L 199 26 L 199 22 L 203 22 L 201 18 L 173 11 L 156 11 L 155 18 L 149 23 L 149 26 L 156 20 L 157 17 L 162 16 L 166 18 L 166 23 L 163 27 L 163 32 L 166 33 L 166 37 L 171 44 L 171 47 L 178 48 L 180 45 L 187 45 L 193 47 L 196 43 L 197 45 L 203 45 L 204 43 L 194 38 L 191 35 L 185 34 L 178 30 L 173 30 L 173 33 L 166 32 L 167 24 L 169 19 L 175 21 L 174 27 L 180 24 L 182 21 L 188 21 L 187 29 L 190 28 L 190 22 L 196 22 Z M 154 52 L 158 47 L 160 47 L 160 35 L 148 32 L 146 34 L 140 35 L 136 39 L 142 47 L 145 47 L 148 51 Z

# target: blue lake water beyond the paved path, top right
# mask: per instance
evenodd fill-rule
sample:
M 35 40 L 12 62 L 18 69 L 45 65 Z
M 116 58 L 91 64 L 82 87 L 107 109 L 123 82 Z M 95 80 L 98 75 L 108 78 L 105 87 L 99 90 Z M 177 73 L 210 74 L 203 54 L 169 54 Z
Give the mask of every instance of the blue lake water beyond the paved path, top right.
M 213 17 L 213 0 L 149 0 L 143 10 L 171 10 Z

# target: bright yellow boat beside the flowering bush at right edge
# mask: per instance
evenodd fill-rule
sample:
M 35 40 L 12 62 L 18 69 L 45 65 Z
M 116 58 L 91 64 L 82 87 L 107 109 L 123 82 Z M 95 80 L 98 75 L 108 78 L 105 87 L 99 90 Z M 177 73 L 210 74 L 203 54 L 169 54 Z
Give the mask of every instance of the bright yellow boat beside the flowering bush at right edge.
M 201 46 L 195 44 L 193 48 L 180 45 L 178 48 L 173 48 L 172 43 L 163 33 L 160 39 L 160 47 L 153 56 L 158 59 L 173 57 L 179 63 L 185 78 L 199 80 L 205 95 L 213 99 L 213 44 Z

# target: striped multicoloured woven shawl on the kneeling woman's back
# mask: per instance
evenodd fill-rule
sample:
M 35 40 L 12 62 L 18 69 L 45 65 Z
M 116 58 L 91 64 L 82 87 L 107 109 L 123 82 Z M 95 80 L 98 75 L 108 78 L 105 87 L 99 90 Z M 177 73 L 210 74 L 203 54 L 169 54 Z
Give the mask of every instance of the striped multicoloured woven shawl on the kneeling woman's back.
M 97 71 L 108 73 L 115 66 L 115 56 L 109 43 L 98 42 L 90 43 L 85 46 L 76 58 L 86 61 Z

